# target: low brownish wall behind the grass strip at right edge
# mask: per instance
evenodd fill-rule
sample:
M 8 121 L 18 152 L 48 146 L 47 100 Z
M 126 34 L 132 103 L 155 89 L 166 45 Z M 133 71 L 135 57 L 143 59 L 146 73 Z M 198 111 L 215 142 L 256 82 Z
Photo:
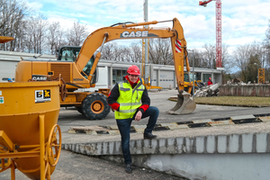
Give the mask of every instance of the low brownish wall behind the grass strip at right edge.
M 269 97 L 270 85 L 220 85 L 220 95 Z

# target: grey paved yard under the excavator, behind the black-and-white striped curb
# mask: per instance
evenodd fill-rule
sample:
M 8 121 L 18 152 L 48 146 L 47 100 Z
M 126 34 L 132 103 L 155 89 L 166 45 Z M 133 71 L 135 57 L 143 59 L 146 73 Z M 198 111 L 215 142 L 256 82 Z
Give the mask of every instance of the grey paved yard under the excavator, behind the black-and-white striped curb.
M 247 114 L 258 114 L 270 112 L 270 107 L 265 108 L 252 108 L 252 107 L 236 107 L 236 106 L 218 106 L 218 105 L 203 105 L 197 104 L 194 112 L 184 115 L 171 115 L 166 111 L 175 106 L 175 102 L 168 101 L 171 96 L 176 96 L 176 90 L 161 91 L 158 93 L 149 93 L 151 98 L 151 105 L 157 106 L 159 109 L 159 117 L 157 123 L 166 122 L 180 122 L 180 121 L 194 121 L 205 120 L 220 117 L 231 117 Z M 133 121 L 133 125 L 146 124 L 147 120 Z M 85 119 L 84 115 L 76 112 L 74 108 L 67 108 L 62 110 L 59 114 L 58 124 L 62 131 L 67 131 L 70 127 L 74 126 L 106 126 L 115 125 L 113 112 L 110 112 L 108 116 L 99 121 L 89 121 Z

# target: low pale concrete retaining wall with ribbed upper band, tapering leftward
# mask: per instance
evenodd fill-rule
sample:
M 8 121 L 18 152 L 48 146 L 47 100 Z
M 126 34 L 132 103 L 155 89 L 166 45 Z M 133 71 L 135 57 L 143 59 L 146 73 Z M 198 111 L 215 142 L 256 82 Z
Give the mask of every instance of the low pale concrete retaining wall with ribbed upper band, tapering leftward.
M 267 132 L 167 139 L 130 140 L 133 164 L 171 175 L 199 179 L 269 178 Z M 122 163 L 121 141 L 64 144 L 62 148 Z

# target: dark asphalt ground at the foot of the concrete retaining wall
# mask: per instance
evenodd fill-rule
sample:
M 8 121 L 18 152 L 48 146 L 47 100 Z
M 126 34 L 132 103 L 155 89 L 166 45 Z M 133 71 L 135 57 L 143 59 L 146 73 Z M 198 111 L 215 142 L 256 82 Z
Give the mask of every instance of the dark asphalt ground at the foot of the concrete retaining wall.
M 51 175 L 51 180 L 134 180 L 134 179 L 166 179 L 166 180 L 184 180 L 173 175 L 158 173 L 153 170 L 133 167 L 132 174 L 126 174 L 124 166 L 115 164 L 111 161 L 103 160 L 97 157 L 85 157 L 66 150 L 61 151 L 55 172 Z M 29 179 L 16 169 L 17 180 Z M 1 180 L 10 180 L 10 171 L 4 171 L 0 174 Z

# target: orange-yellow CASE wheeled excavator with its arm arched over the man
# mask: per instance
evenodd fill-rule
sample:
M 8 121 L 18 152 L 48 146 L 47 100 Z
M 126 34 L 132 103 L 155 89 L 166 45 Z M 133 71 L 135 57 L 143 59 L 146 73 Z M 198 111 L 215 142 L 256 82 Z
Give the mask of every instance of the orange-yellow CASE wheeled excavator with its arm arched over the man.
M 172 22 L 172 28 L 145 29 L 144 25 Z M 99 89 L 98 92 L 76 92 L 78 88 L 94 87 L 96 83 L 96 67 L 101 58 L 103 45 L 111 40 L 170 38 L 175 62 L 175 75 L 178 86 L 178 101 L 174 108 L 167 111 L 171 114 L 193 112 L 196 104 L 191 98 L 192 83 L 188 84 L 187 93 L 184 92 L 184 62 L 187 71 L 190 70 L 186 41 L 181 23 L 174 18 L 164 22 L 146 23 L 117 23 L 92 32 L 76 54 L 58 52 L 61 60 L 22 60 L 16 67 L 15 81 L 50 80 L 62 76 L 65 85 L 60 88 L 60 104 L 62 107 L 76 106 L 79 112 L 90 120 L 103 119 L 110 112 L 106 96 L 110 89 Z M 98 51 L 94 56 L 95 51 Z M 69 55 L 69 56 L 68 56 Z M 69 59 L 69 60 L 68 60 Z M 73 61 L 74 60 L 74 61 Z

